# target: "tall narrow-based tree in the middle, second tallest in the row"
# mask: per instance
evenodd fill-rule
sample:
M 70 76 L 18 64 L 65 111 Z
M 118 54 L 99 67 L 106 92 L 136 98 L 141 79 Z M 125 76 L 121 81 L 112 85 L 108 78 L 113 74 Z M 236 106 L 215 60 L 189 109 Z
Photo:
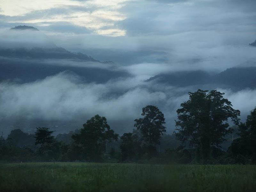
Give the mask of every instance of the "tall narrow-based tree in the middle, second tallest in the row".
M 142 133 L 149 150 L 156 150 L 155 145 L 160 144 L 161 135 L 166 132 L 164 114 L 156 106 L 148 105 L 142 108 L 141 116 L 144 117 L 134 120 L 134 127 Z

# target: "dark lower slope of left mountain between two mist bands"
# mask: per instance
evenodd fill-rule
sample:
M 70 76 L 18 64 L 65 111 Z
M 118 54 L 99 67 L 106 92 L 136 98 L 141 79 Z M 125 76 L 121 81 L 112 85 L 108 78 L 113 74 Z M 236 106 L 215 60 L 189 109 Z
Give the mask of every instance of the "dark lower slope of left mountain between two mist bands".
M 18 81 L 19 83 L 29 83 L 44 79 L 47 76 L 54 76 L 60 72 L 71 75 L 78 75 L 84 82 L 104 83 L 110 79 L 130 76 L 126 71 L 109 70 L 86 65 L 85 62 L 76 61 L 84 66 L 60 65 L 60 62 L 72 62 L 69 60 L 25 60 L 6 59 L 0 57 L 0 82 L 5 80 Z M 75 64 L 76 64 L 75 63 Z M 96 64 L 96 63 L 95 63 Z

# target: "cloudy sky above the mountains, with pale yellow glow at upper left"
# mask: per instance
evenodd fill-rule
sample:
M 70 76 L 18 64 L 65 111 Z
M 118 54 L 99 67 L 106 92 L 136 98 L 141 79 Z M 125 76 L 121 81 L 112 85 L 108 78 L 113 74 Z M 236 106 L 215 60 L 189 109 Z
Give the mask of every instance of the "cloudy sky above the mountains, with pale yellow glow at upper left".
M 201 59 L 200 68 L 223 70 L 256 39 L 253 0 L 0 2 L 2 29 L 31 25 L 58 46 L 122 64 Z

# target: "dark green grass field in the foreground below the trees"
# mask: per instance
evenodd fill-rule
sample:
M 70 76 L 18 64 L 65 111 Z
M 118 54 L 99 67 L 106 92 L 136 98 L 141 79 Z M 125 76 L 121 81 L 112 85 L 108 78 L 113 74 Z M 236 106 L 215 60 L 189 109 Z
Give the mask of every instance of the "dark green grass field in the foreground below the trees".
M 0 164 L 0 191 L 255 191 L 253 165 Z

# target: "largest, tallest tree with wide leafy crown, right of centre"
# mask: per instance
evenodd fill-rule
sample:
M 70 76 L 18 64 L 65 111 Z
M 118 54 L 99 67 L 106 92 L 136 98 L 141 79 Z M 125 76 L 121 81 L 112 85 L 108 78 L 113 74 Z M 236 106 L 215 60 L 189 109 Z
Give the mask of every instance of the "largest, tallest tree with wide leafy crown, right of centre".
M 232 132 L 228 119 L 239 124 L 239 110 L 232 108 L 224 93 L 217 90 L 189 92 L 189 100 L 177 110 L 176 137 L 183 143 L 198 147 L 205 164 L 210 158 L 211 146 L 220 146 L 225 135 Z

